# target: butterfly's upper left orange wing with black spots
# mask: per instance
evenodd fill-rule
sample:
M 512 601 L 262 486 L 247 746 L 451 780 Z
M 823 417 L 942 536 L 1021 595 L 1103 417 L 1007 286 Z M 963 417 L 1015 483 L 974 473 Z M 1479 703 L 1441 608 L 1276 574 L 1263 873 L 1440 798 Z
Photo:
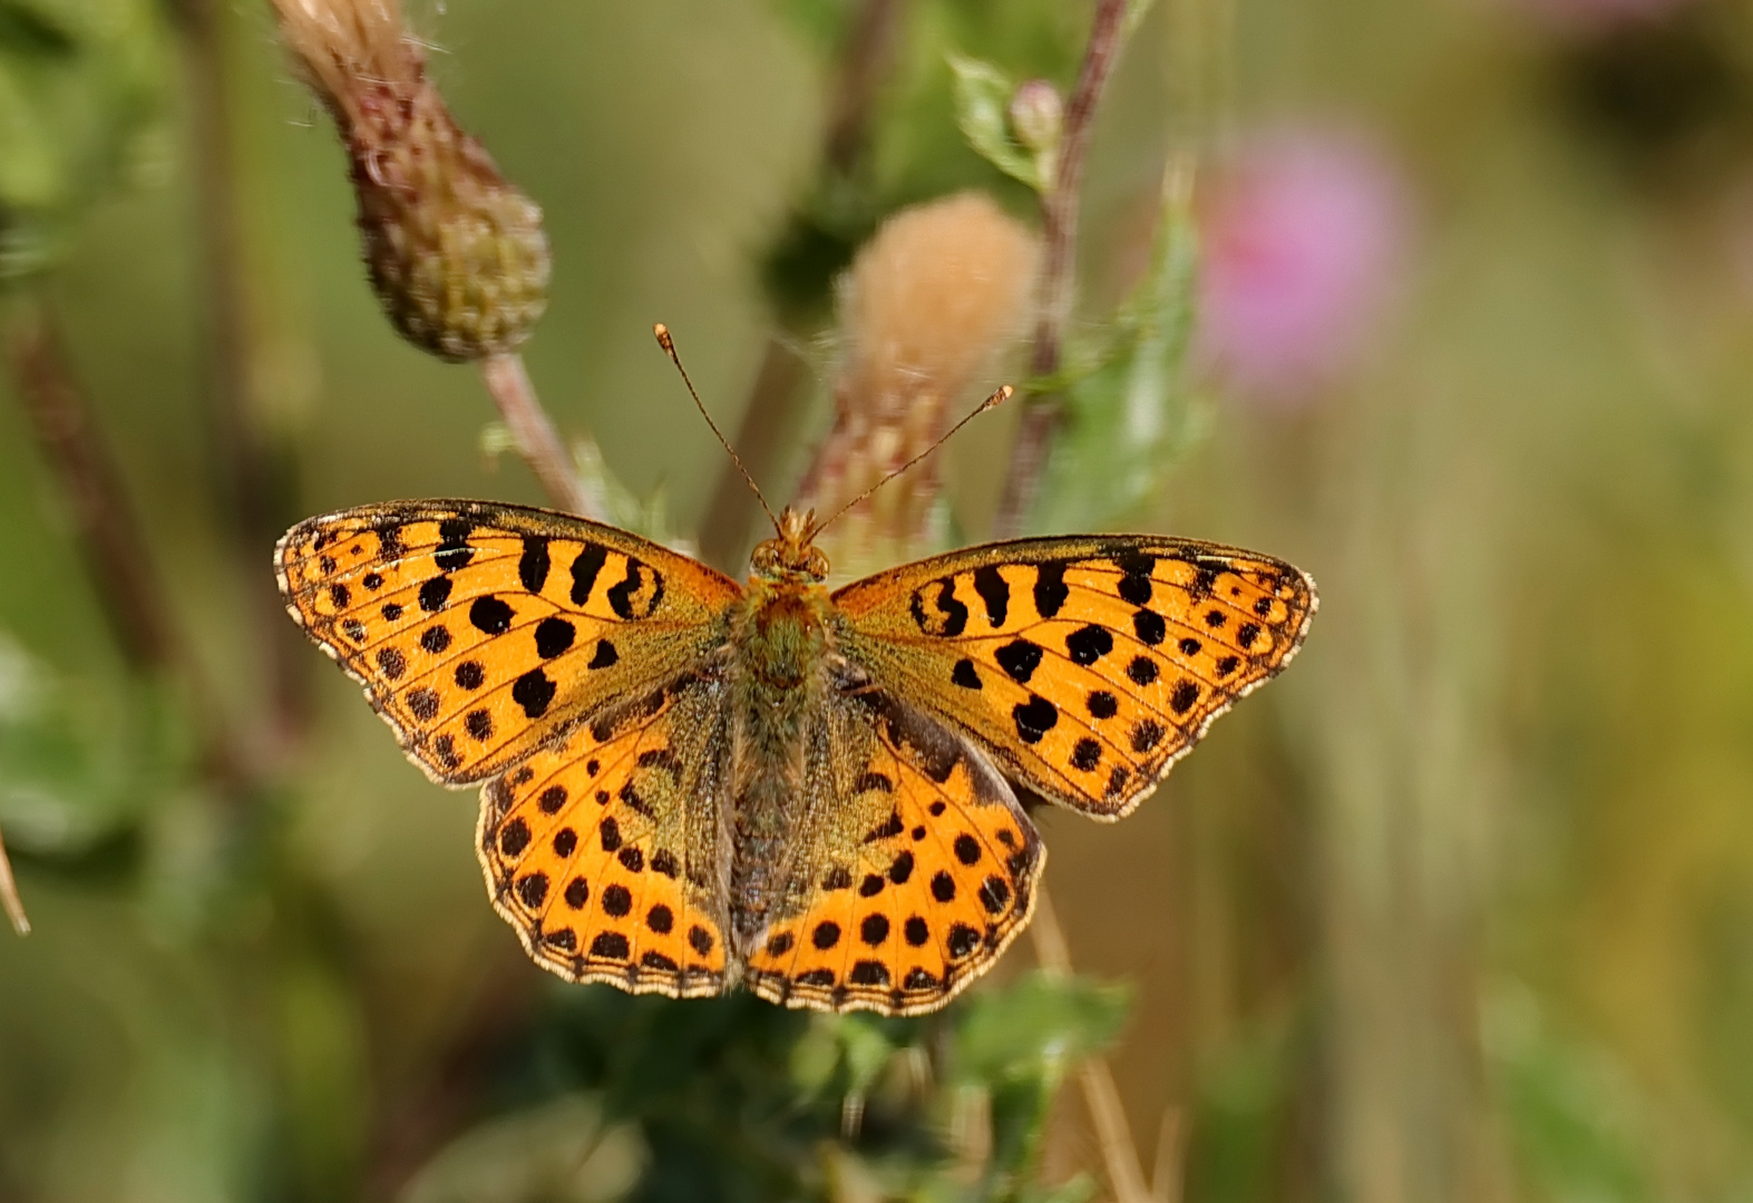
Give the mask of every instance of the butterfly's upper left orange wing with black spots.
M 445 784 L 673 679 L 722 643 L 742 594 L 626 531 L 480 501 L 309 518 L 273 562 L 293 618 Z

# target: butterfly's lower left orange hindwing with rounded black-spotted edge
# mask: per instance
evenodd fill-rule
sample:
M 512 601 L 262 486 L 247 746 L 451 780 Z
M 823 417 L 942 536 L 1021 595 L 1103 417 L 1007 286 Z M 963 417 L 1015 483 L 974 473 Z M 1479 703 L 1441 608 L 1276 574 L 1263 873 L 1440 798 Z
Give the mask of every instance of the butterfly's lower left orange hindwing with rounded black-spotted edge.
M 543 968 L 671 998 L 724 989 L 722 688 L 685 676 L 482 788 L 487 893 Z

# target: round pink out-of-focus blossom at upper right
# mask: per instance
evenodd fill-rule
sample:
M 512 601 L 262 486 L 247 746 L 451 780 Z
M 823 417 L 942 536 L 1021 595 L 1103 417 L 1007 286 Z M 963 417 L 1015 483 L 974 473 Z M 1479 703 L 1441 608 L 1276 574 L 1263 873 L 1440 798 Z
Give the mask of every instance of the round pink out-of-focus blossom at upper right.
M 1373 144 L 1260 135 L 1217 172 L 1203 208 L 1197 354 L 1239 394 L 1295 405 L 1380 338 L 1409 200 Z

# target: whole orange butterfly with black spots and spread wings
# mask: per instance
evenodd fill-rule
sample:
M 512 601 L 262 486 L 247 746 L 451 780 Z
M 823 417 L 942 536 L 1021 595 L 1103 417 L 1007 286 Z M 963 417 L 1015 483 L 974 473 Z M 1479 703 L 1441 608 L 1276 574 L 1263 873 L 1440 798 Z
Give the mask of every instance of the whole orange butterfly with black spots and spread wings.
M 898 1016 L 1027 925 L 1015 786 L 1127 814 L 1317 608 L 1283 560 L 1155 534 L 829 592 L 813 515 L 777 527 L 738 585 L 578 517 L 401 501 L 298 524 L 275 569 L 403 751 L 480 783 L 487 893 L 538 965 Z

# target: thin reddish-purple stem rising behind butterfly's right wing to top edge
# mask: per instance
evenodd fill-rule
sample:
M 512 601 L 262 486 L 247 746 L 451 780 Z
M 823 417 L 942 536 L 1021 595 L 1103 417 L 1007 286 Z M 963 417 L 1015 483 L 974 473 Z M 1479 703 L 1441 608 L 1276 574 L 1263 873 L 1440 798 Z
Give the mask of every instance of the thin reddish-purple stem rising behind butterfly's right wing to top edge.
M 1083 47 L 1083 63 L 1066 102 L 1064 135 L 1059 144 L 1059 172 L 1054 186 L 1041 198 L 1041 233 L 1047 243 L 1041 264 L 1041 317 L 1034 327 L 1034 355 L 1029 364 L 1036 376 L 1059 371 L 1064 350 L 1066 322 L 1071 319 L 1071 298 L 1078 263 L 1078 200 L 1083 189 L 1083 158 L 1089 151 L 1090 130 L 1103 88 L 1120 54 L 1127 0 L 1097 0 L 1096 19 L 1090 23 L 1090 40 Z M 999 499 L 992 534 L 1010 539 L 1022 532 L 1034 494 L 1047 466 L 1047 448 L 1059 426 L 1064 397 L 1057 392 L 1031 396 L 1024 403 L 1017 441 L 1010 452 L 1010 469 Z

